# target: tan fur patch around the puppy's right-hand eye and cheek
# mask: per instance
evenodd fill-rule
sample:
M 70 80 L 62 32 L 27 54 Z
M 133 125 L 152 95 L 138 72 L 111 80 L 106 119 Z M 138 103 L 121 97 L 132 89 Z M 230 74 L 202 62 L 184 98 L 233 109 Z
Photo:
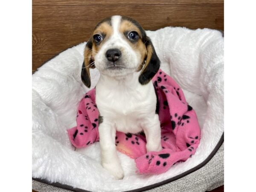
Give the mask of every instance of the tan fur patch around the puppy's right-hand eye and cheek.
M 131 21 L 123 20 L 122 23 L 120 24 L 119 32 L 121 34 L 124 34 L 125 32 L 132 32 L 132 31 L 136 31 L 139 35 L 139 39 L 137 40 L 137 42 L 132 43 L 131 41 L 128 40 L 128 38 L 125 35 L 124 35 L 124 38 L 135 51 L 140 53 L 140 64 L 137 69 L 137 71 L 140 71 L 143 68 L 144 58 L 147 55 L 147 49 L 145 47 L 145 44 L 142 41 L 142 34 L 140 32 L 140 29 L 136 25 L 134 25 L 134 23 L 132 23 Z

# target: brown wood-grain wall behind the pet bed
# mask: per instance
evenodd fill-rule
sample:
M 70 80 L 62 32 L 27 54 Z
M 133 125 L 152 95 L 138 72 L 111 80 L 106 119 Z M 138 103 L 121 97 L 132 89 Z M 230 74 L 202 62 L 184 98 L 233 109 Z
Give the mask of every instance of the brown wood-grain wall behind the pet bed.
M 111 15 L 132 17 L 146 30 L 224 30 L 224 0 L 32 0 L 32 71 L 87 41 L 96 23 Z

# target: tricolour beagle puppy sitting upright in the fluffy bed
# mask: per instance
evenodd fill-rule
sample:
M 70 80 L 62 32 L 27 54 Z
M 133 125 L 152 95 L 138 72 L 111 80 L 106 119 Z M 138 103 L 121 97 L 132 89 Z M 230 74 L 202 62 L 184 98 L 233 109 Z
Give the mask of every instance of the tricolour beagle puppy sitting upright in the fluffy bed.
M 128 17 L 102 20 L 84 50 L 81 79 L 90 87 L 89 68 L 97 68 L 96 105 L 102 166 L 116 179 L 124 172 L 116 153 L 116 131 L 144 131 L 147 151 L 160 151 L 161 133 L 157 96 L 151 81 L 160 60 L 140 24 Z

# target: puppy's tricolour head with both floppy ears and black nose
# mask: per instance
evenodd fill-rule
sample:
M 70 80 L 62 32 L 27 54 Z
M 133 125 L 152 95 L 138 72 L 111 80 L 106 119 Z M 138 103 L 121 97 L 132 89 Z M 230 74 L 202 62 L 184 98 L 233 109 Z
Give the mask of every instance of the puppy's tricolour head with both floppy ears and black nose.
M 112 16 L 99 22 L 84 50 L 81 79 L 90 87 L 89 68 L 122 78 L 140 71 L 138 81 L 147 84 L 157 73 L 160 60 L 140 24 L 129 17 Z

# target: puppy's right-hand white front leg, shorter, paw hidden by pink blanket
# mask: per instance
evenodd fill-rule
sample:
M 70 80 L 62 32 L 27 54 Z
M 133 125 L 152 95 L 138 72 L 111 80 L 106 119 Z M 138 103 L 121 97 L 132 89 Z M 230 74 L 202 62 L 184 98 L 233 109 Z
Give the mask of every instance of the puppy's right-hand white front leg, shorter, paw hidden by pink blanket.
M 161 127 L 157 114 L 145 120 L 143 130 L 146 136 L 146 148 L 149 151 L 161 151 Z

